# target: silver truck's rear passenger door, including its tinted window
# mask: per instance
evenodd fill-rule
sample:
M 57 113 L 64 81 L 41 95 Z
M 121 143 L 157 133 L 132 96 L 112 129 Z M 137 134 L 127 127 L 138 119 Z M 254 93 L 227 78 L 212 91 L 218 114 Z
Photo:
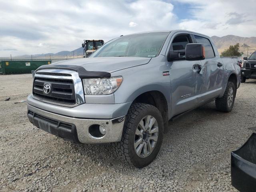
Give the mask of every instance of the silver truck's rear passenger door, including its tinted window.
M 214 52 L 209 38 L 194 34 L 194 39 L 197 43 L 203 44 L 205 48 L 206 58 L 201 60 L 203 75 L 201 102 L 207 102 L 218 97 L 222 90 L 223 64 L 218 54 Z

